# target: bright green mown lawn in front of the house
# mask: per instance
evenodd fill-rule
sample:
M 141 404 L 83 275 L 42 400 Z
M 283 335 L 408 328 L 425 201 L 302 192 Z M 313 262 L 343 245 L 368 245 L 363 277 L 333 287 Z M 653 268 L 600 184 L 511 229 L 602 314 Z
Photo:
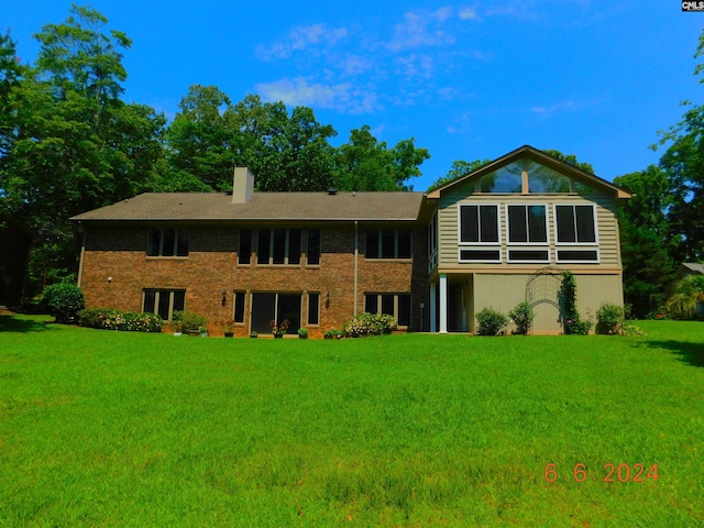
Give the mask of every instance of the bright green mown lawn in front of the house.
M 702 322 L 254 341 L 46 321 L 0 316 L 2 527 L 704 525 Z

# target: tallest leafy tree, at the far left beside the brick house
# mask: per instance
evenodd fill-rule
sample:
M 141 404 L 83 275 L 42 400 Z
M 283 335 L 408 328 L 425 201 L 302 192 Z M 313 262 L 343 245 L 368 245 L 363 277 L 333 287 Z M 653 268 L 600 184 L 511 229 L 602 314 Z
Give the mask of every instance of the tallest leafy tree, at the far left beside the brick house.
M 75 273 L 78 233 L 68 218 L 152 188 L 165 120 L 120 100 L 130 41 L 107 20 L 73 6 L 63 24 L 46 24 L 36 66 L 26 67 L 7 100 L 11 141 L 0 169 L 3 216 L 37 234 L 31 279 Z M 6 51 L 7 52 L 7 51 Z M 3 52 L 4 53 L 4 52 Z M 6 138 L 7 139 L 7 138 Z

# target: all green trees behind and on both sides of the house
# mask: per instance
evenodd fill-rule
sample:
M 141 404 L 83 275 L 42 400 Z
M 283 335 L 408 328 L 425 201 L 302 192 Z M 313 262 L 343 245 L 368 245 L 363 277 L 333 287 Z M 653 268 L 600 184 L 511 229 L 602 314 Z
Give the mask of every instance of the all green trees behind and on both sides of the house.
M 122 53 L 132 43 L 87 7 L 35 37 L 37 58 L 22 64 L 10 32 L 0 33 L 0 244 L 7 256 L 16 233 L 32 239 L 28 296 L 75 274 L 72 216 L 145 191 L 228 190 L 235 165 L 257 175 L 257 190 L 409 190 L 430 157 L 413 138 L 389 146 L 369 125 L 332 146 L 338 132 L 312 109 L 255 95 L 233 102 L 216 86 L 191 86 L 169 122 L 124 100 Z M 704 33 L 694 57 L 703 55 Z M 704 82 L 704 64 L 694 74 Z M 659 311 L 678 266 L 704 252 L 704 107 L 683 105 L 682 121 L 652 146 L 660 162 L 614 179 L 634 194 L 617 213 L 625 297 L 638 317 Z M 455 161 L 429 190 L 486 163 Z M 0 294 L 9 280 L 0 262 Z

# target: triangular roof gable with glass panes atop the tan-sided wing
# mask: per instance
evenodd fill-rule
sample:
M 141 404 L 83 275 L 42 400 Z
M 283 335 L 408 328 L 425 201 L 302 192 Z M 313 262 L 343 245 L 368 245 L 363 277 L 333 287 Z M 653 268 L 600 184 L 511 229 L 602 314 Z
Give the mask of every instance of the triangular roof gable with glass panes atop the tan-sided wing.
M 631 195 L 614 184 L 562 162 L 530 145 L 524 145 L 493 161 L 466 176 L 455 179 L 428 195 L 440 198 L 447 191 L 458 190 L 462 186 L 476 188 L 482 193 L 517 193 L 524 187 L 524 173 L 527 173 L 529 193 L 580 193 L 580 189 L 594 189 L 597 193 L 615 195 L 617 198 L 630 198 Z

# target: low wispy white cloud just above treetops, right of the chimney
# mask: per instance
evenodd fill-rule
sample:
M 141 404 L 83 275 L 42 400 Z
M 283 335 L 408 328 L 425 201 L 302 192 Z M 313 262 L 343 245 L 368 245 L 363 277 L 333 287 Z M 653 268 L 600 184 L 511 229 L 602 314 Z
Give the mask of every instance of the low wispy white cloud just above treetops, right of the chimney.
M 352 82 L 322 85 L 297 77 L 260 82 L 255 88 L 264 99 L 290 106 L 329 108 L 350 113 L 370 113 L 378 107 L 373 89 L 355 87 Z

